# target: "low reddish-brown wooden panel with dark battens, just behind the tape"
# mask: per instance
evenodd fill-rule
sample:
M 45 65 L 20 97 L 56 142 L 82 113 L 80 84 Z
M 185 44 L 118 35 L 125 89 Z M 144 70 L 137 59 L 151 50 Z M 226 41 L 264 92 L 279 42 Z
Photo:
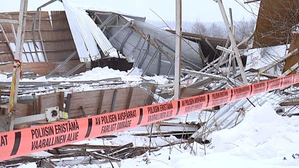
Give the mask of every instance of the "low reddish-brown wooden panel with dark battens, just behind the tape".
M 156 89 L 155 86 L 146 86 L 145 88 L 153 92 Z M 82 117 L 81 106 L 86 116 L 111 112 L 114 93 L 116 93 L 116 97 L 113 111 L 150 105 L 153 102 L 152 96 L 146 94 L 139 87 L 75 92 L 70 93 L 69 100 L 66 100 L 66 109 L 69 107 L 69 118 Z

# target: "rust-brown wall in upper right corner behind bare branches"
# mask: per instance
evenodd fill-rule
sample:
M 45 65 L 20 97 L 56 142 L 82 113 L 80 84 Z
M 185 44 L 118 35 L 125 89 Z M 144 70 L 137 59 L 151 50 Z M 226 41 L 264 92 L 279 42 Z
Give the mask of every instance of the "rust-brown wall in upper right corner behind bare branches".
M 261 0 L 255 28 L 254 48 L 286 44 L 299 23 L 298 0 Z

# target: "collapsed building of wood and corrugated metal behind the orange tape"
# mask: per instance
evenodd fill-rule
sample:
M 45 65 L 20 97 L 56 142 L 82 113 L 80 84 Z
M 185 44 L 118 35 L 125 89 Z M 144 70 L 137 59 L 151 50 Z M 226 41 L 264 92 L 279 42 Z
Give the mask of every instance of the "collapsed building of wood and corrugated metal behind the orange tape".
M 267 0 L 261 2 L 255 32 L 241 42 L 231 38 L 182 33 L 181 98 L 296 72 L 299 65 L 297 34 L 293 32 L 296 38 L 286 39 L 281 38 L 288 35 L 280 35 L 280 40 L 270 39 L 272 41 L 269 42 L 271 36 L 265 36 L 266 30 L 271 33 L 278 30 L 272 30 L 277 28 L 275 26 L 267 27 L 270 19 L 265 16 L 269 15 L 263 12 L 271 6 L 265 6 L 266 3 L 268 4 Z M 62 117 L 64 114 L 67 114 L 68 119 L 77 119 L 172 100 L 175 31 L 150 25 L 144 17 L 113 11 L 83 11 L 68 1 L 63 1 L 63 4 L 65 11 L 45 12 L 38 8 L 37 11 L 27 12 L 22 54 L 25 80 L 20 82 L 16 105 L 18 113 L 12 128 L 55 122 L 65 119 Z M 1 13 L 0 18 L 17 19 L 18 15 L 18 12 L 6 12 Z M 15 58 L 17 24 L 2 23 L 0 26 L 1 118 L 8 113 L 11 88 L 9 78 L 12 76 L 12 62 Z M 288 27 L 290 26 L 294 25 Z M 229 28 L 228 31 L 231 30 L 233 29 Z M 253 48 L 249 48 L 252 37 Z M 235 47 L 234 43 L 237 44 Z M 241 62 L 238 62 L 238 58 Z M 106 66 L 128 72 L 109 76 L 112 74 L 107 73 L 107 68 L 103 68 Z M 137 68 L 142 69 L 142 72 L 132 75 L 132 69 Z M 91 69 L 94 70 L 93 73 L 87 71 Z M 98 78 L 97 75 L 101 73 L 105 77 Z M 246 80 L 242 79 L 244 76 Z M 155 77 L 162 78 L 160 80 L 163 81 L 159 82 Z M 277 94 L 284 91 L 285 93 Z M 160 131 L 165 135 L 185 138 L 190 136 L 191 141 L 207 143 L 210 139 L 205 135 L 234 127 L 243 120 L 246 111 L 255 105 L 262 105 L 267 101 L 277 106 L 290 105 L 288 94 L 287 90 L 261 94 L 189 116 L 155 123 L 151 129 L 156 131 L 157 136 Z M 53 111 L 58 111 L 59 114 L 54 115 Z M 287 115 L 287 112 L 282 114 Z M 213 119 L 207 116 L 212 116 Z M 5 124 L 0 124 L 0 131 L 10 129 Z M 134 130 L 149 132 L 148 126 Z M 131 146 L 132 144 L 116 149 L 126 148 L 129 152 L 134 152 L 137 148 L 127 148 Z M 76 146 L 80 147 L 86 146 Z M 51 153 L 64 151 L 57 150 Z M 137 150 L 140 151 L 140 148 Z M 122 156 L 115 156 L 113 159 L 126 158 L 126 153 L 120 152 L 120 155 Z

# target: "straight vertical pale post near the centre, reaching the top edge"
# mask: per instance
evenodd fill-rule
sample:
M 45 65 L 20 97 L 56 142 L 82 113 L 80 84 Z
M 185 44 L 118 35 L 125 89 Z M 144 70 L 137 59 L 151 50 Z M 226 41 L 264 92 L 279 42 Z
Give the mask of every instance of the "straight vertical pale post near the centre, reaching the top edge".
M 180 97 L 182 53 L 182 0 L 175 1 L 175 58 L 174 58 L 174 100 Z

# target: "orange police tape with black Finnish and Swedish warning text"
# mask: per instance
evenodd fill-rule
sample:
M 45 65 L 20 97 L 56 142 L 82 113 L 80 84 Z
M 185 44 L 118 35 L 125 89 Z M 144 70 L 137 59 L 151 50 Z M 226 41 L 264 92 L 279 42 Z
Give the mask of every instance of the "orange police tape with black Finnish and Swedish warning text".
M 0 133 L 0 161 L 162 121 L 299 83 L 299 74 L 165 103 Z

